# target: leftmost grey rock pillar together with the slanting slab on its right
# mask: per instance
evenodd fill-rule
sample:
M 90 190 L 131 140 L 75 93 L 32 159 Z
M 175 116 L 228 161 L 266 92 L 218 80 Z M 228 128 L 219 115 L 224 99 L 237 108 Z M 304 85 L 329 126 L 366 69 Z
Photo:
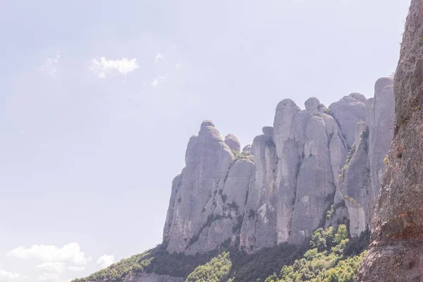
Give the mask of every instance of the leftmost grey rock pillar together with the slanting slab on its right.
M 192 255 L 235 240 L 253 163 L 236 159 L 213 123 L 204 121 L 188 142 L 185 164 L 173 180 L 164 242 L 169 252 Z

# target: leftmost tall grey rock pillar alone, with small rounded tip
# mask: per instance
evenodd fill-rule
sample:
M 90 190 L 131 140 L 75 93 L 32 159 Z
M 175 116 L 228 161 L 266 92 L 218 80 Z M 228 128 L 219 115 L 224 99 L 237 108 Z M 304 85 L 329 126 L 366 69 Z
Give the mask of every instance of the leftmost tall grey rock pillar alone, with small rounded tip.
M 188 142 L 183 173 L 174 180 L 174 205 L 168 209 L 164 233 L 169 252 L 189 252 L 188 248 L 214 219 L 216 197 L 223 190 L 233 160 L 219 131 L 212 122 L 204 121 L 198 136 Z

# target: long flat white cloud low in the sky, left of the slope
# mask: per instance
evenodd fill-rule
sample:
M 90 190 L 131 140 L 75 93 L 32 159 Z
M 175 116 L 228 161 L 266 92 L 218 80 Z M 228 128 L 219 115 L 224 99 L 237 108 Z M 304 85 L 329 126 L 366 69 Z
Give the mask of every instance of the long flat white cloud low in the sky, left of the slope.
M 43 262 L 73 262 L 73 264 L 87 264 L 91 258 L 81 252 L 80 245 L 71 243 L 59 248 L 54 245 L 20 246 L 7 253 L 9 257 L 19 259 L 40 259 Z

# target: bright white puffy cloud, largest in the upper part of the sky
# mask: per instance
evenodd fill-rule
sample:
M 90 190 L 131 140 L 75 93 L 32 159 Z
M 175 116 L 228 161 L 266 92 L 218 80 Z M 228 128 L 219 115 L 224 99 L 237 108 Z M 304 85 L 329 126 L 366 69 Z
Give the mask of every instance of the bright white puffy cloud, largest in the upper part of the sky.
M 107 60 L 101 57 L 100 61 L 91 59 L 88 62 L 88 69 L 96 74 L 99 78 L 106 78 L 107 75 L 119 73 L 125 75 L 131 71 L 135 71 L 138 66 L 137 59 L 122 58 L 121 60 Z

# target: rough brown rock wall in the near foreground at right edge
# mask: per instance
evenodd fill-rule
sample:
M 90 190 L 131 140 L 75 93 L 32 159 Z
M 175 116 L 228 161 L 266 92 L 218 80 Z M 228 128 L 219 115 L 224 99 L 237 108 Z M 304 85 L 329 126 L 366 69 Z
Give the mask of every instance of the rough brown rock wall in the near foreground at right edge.
M 423 279 L 423 2 L 412 0 L 394 89 L 394 137 L 357 281 Z M 376 173 L 376 177 L 377 177 Z

